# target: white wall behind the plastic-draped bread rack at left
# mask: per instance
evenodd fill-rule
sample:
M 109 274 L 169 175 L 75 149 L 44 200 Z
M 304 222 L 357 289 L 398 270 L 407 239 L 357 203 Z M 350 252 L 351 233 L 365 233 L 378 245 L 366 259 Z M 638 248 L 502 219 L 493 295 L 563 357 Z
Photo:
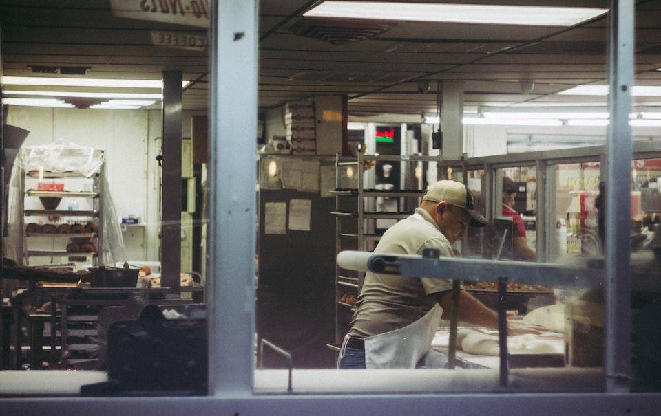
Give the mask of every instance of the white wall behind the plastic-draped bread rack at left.
M 191 135 L 192 113 L 184 113 L 182 137 Z M 30 131 L 26 146 L 58 139 L 104 149 L 107 177 L 118 217 L 138 215 L 144 227 L 124 232 L 127 257 L 158 260 L 160 228 L 160 110 L 54 109 L 9 106 L 8 124 Z

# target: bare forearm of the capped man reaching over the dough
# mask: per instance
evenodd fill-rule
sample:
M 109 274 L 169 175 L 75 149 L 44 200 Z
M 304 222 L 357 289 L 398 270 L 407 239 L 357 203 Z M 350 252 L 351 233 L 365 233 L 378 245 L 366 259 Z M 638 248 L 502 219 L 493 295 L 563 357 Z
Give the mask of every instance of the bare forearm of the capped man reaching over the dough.
M 432 295 L 443 308 L 441 318 L 450 320 L 452 291 L 439 292 Z M 498 314 L 463 289 L 459 292 L 459 320 L 482 327 L 498 328 Z M 527 325 L 523 322 L 508 320 L 507 331 L 509 335 L 518 335 L 521 333 L 542 333 L 547 331 L 547 329 L 540 325 Z

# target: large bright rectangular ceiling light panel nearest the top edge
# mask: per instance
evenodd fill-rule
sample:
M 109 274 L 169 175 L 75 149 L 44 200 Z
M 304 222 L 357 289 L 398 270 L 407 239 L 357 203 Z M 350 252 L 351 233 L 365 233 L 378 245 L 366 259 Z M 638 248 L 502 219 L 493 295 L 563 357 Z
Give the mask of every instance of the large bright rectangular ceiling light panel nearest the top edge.
M 487 6 L 478 4 L 324 1 L 306 17 L 481 23 L 490 25 L 571 26 L 608 12 L 602 8 Z

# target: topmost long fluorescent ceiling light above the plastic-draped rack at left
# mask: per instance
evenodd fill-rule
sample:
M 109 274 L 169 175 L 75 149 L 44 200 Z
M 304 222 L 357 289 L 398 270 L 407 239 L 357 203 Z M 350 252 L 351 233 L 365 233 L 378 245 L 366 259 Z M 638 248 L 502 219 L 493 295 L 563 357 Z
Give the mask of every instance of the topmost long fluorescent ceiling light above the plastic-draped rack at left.
M 3 76 L 3 85 L 53 85 L 59 87 L 162 88 L 162 80 L 119 80 L 107 78 L 55 78 L 46 76 Z M 185 87 L 190 81 L 182 81 Z

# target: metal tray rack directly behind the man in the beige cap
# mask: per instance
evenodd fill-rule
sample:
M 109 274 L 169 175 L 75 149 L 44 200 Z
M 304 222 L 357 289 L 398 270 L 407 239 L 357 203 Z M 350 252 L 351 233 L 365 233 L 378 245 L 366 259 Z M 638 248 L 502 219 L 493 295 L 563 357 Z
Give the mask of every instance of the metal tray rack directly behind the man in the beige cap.
M 392 224 L 410 216 L 424 195 L 423 163 L 438 156 L 366 155 L 335 158 L 336 254 L 374 250 Z M 356 311 L 364 274 L 336 267 L 336 342 L 341 342 Z

